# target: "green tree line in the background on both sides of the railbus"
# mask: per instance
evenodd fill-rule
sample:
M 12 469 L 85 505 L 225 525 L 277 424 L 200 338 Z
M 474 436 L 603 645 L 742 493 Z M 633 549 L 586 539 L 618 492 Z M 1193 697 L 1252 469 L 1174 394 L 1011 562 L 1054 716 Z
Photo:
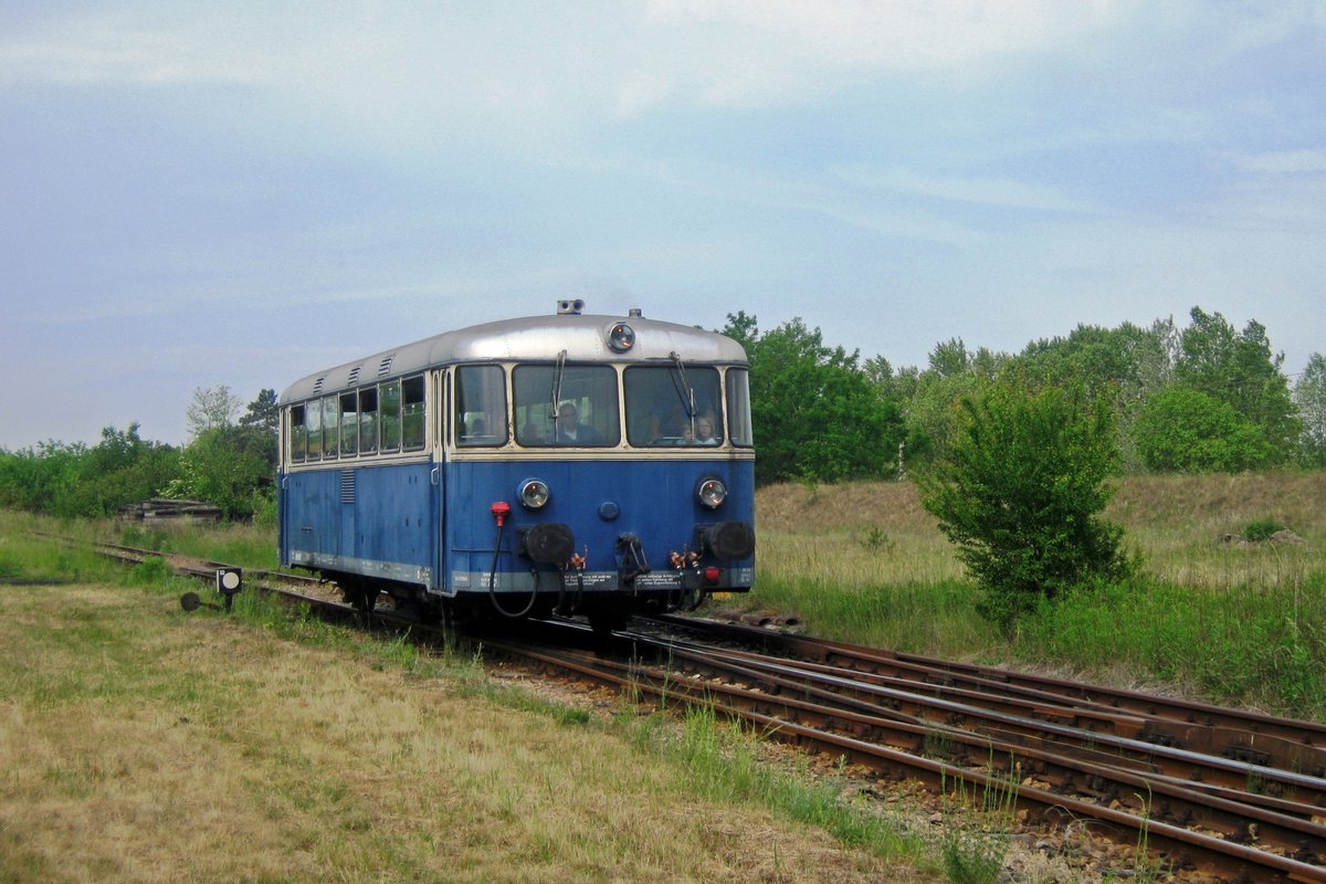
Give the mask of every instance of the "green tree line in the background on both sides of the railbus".
M 1016 379 L 1025 395 L 1081 398 L 1106 415 L 1111 469 L 1238 472 L 1326 465 L 1326 359 L 1314 353 L 1290 384 L 1265 327 L 1237 331 L 1193 307 L 1188 325 L 1079 325 L 1018 354 L 935 345 L 926 367 L 823 342 L 797 318 L 761 331 L 728 315 L 723 333 L 751 360 L 761 484 L 890 480 L 951 463 L 972 403 Z M 965 404 L 964 404 L 965 403 Z M 0 506 L 61 517 L 109 516 L 151 497 L 204 500 L 232 520 L 273 513 L 278 411 L 263 390 L 247 407 L 228 387 L 200 388 L 186 410 L 190 441 L 145 440 L 107 427 L 95 445 L 0 448 Z

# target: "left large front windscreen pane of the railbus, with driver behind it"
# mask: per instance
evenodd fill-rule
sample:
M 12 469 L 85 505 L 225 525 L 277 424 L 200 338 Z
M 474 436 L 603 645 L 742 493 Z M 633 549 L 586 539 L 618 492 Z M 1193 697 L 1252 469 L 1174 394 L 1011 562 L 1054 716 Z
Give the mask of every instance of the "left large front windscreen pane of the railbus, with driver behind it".
M 611 366 L 516 366 L 512 388 L 521 445 L 606 448 L 622 441 Z

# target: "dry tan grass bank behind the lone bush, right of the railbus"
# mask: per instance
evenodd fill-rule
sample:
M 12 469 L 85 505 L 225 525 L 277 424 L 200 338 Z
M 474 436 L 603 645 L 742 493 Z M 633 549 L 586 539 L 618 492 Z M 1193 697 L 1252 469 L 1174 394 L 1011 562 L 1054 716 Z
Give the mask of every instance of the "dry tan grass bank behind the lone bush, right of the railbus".
M 1130 476 L 1106 518 L 1124 526 L 1148 575 L 1191 587 L 1293 586 L 1326 566 L 1326 472 Z M 911 482 L 784 484 L 757 497 L 761 577 L 837 586 L 930 586 L 963 577 Z M 1302 546 L 1223 543 L 1273 518 Z

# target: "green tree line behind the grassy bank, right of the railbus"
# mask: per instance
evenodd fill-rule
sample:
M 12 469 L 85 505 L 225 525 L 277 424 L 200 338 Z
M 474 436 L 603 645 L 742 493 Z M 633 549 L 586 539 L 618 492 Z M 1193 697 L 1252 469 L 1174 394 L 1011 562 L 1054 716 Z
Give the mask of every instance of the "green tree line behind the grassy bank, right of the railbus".
M 723 331 L 751 359 L 756 473 L 789 480 L 898 478 L 947 463 L 969 420 L 963 403 L 1016 378 L 1075 391 L 1110 420 L 1116 472 L 1244 472 L 1326 465 L 1326 358 L 1290 384 L 1256 319 L 1237 331 L 1193 307 L 1188 325 L 1079 325 L 1017 354 L 937 343 L 895 368 L 823 342 L 801 319 L 761 331 L 744 311 Z

